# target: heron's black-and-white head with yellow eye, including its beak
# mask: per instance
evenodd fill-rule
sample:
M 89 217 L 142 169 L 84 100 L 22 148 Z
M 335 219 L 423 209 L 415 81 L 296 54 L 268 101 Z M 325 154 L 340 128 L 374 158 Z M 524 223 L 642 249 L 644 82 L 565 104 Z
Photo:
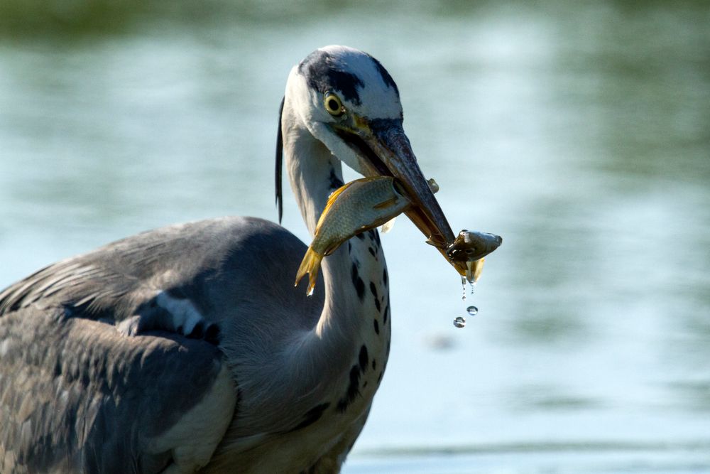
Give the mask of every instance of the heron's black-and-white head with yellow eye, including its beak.
M 331 153 L 363 176 L 393 176 L 413 206 L 406 214 L 443 249 L 454 235 L 403 129 L 397 85 L 371 55 L 345 46 L 315 50 L 291 70 L 295 114 Z

